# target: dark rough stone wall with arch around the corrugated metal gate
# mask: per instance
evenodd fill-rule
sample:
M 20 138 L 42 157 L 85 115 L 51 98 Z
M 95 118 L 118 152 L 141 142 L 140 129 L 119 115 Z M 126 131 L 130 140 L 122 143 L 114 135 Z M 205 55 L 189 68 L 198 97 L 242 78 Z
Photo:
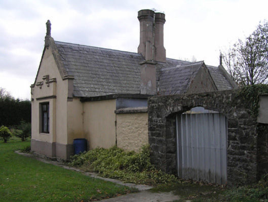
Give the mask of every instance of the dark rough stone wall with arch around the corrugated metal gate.
M 201 106 L 218 111 L 227 118 L 228 184 L 240 185 L 256 181 L 256 120 L 236 97 L 237 92 L 238 90 L 226 90 L 151 97 L 148 100 L 148 136 L 152 162 L 159 169 L 176 174 L 176 114 Z

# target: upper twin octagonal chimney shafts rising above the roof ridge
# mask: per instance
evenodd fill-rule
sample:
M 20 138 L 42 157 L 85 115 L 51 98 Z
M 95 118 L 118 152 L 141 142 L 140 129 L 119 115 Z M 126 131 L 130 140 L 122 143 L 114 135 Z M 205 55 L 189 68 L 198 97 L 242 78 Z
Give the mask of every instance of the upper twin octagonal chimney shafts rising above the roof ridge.
M 165 14 L 155 13 L 152 10 L 140 10 L 140 44 L 138 53 L 145 61 L 166 62 L 166 49 L 164 48 Z

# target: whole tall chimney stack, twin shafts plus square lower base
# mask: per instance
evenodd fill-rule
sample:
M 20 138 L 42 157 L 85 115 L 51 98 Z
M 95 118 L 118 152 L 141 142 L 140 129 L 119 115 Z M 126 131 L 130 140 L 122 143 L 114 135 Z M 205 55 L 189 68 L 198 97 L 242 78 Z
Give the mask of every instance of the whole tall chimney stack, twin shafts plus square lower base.
M 166 62 L 164 48 L 165 14 L 152 10 L 140 10 L 140 44 L 138 53 L 145 58 L 140 63 L 140 94 L 155 95 L 157 93 L 157 62 Z

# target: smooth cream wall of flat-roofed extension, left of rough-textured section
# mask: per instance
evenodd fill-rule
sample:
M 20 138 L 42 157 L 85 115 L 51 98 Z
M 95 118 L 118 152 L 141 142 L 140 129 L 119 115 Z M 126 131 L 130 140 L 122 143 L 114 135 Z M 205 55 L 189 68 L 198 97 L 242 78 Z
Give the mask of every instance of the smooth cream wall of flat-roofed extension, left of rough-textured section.
M 89 149 L 116 144 L 116 99 L 84 103 L 84 132 Z

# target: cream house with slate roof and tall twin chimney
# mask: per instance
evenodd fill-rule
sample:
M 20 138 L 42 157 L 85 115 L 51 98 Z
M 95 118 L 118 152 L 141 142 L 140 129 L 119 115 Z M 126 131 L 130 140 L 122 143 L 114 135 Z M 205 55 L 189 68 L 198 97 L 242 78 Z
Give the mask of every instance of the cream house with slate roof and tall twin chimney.
M 166 58 L 165 14 L 141 10 L 138 19 L 137 53 L 54 41 L 47 22 L 31 85 L 32 151 L 67 159 L 76 138 L 138 151 L 148 143 L 148 97 L 236 88 L 221 64 Z

